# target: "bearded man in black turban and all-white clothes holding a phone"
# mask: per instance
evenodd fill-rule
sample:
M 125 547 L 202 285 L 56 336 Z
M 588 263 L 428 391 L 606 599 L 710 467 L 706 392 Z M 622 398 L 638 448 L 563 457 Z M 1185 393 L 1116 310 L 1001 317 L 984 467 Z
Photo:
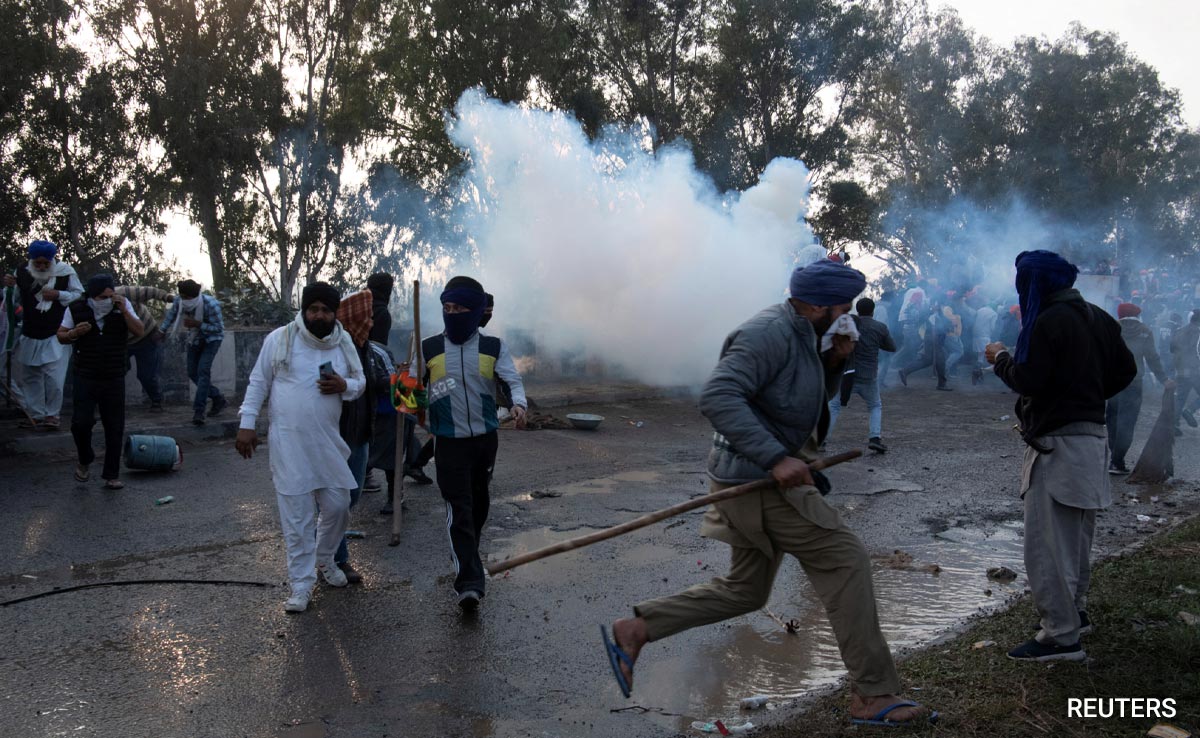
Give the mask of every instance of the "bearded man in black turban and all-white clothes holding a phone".
M 250 458 L 258 446 L 254 422 L 270 394 L 271 476 L 292 583 L 288 612 L 308 607 L 318 571 L 330 586 L 346 586 L 334 553 L 346 534 L 355 481 L 337 422 L 342 402 L 361 395 L 366 383 L 354 343 L 335 318 L 340 304 L 324 282 L 304 288 L 295 320 L 263 341 L 240 412 L 238 452 Z

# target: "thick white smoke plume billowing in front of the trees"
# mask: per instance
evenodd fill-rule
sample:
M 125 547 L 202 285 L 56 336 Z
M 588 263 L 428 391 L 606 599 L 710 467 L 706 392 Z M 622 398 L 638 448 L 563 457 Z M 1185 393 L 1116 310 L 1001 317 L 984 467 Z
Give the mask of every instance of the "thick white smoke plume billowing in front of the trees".
M 797 254 L 815 241 L 809 173 L 794 160 L 721 196 L 684 149 L 650 154 L 628 130 L 593 143 L 569 115 L 478 91 L 460 100 L 449 132 L 469 155 L 472 193 L 461 222 L 473 263 L 457 271 L 496 295 L 488 331 L 528 331 L 540 356 L 700 384 L 728 331 L 786 296 Z

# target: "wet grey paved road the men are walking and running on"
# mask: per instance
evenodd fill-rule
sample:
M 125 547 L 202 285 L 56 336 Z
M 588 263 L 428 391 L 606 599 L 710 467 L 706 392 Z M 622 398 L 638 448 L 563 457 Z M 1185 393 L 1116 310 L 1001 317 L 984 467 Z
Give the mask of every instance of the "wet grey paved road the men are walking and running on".
M 1001 420 L 1012 396 L 995 384 L 953 394 L 914 384 L 884 396 L 892 452 L 833 474 L 833 502 L 878 554 L 881 616 L 896 649 L 1022 587 L 984 576 L 998 564 L 1022 570 L 1021 448 L 1012 420 Z M 485 541 L 492 559 L 706 490 L 710 431 L 691 402 L 577 409 L 607 420 L 596 432 L 502 432 Z M 1147 430 L 1148 420 L 1139 444 Z M 842 415 L 830 451 L 859 437 L 860 404 Z M 1180 439 L 1184 480 L 1200 479 L 1195 455 L 1184 452 L 1198 438 Z M 671 736 L 734 714 L 739 697 L 784 702 L 841 673 L 824 616 L 790 562 L 767 610 L 798 620 L 799 635 L 767 613 L 682 634 L 643 652 L 634 698 L 620 697 L 598 624 L 724 572 L 727 548 L 696 535 L 697 514 L 514 570 L 492 582 L 481 617 L 463 620 L 436 488 L 410 488 L 396 548 L 376 512 L 380 496 L 367 494 L 352 521 L 367 533 L 352 554 L 364 584 L 318 588 L 307 613 L 287 616 L 265 457 L 242 461 L 228 442 L 191 445 L 184 470 L 130 475 L 119 493 L 73 482 L 62 454 L 4 467 L 6 600 L 115 580 L 272 587 L 102 587 L 0 607 L 2 736 Z M 1138 512 L 1177 518 L 1200 506 L 1192 481 L 1153 493 L 1158 503 L 1144 493 L 1102 516 L 1102 548 L 1153 527 L 1138 523 Z M 155 506 L 164 494 L 176 502 Z

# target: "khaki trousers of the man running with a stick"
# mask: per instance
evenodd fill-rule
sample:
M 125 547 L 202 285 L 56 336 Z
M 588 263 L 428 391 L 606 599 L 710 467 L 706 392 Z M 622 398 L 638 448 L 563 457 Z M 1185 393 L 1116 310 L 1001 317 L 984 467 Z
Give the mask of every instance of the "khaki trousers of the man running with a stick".
M 775 546 L 775 557 L 734 546 L 728 575 L 638 604 L 634 612 L 646 620 L 649 640 L 763 607 L 784 556 L 792 554 L 824 605 L 854 691 L 864 697 L 899 694 L 900 677 L 880 630 L 871 560 L 863 542 L 845 526 L 828 529 L 812 523 L 779 492 L 761 494 L 763 529 Z

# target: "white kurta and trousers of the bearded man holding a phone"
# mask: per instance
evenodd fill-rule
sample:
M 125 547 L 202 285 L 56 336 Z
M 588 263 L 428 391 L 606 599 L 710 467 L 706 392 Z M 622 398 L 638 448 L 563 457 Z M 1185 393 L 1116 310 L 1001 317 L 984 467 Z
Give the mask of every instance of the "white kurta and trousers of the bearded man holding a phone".
M 340 331 L 338 331 L 340 332 Z M 276 371 L 280 341 L 288 328 L 263 341 L 241 406 L 241 428 L 253 428 L 263 401 L 270 395 L 271 478 L 280 508 L 280 524 L 288 557 L 293 594 L 307 595 L 317 582 L 317 564 L 334 565 L 334 553 L 349 521 L 350 488 L 355 486 L 346 460 L 350 448 L 338 433 L 342 402 L 362 394 L 362 367 L 352 353 L 314 348 L 299 332 L 292 335 L 289 360 Z M 349 359 L 354 359 L 352 366 Z M 322 395 L 319 367 L 329 361 L 346 379 L 341 395 Z M 319 510 L 319 512 L 318 512 Z

